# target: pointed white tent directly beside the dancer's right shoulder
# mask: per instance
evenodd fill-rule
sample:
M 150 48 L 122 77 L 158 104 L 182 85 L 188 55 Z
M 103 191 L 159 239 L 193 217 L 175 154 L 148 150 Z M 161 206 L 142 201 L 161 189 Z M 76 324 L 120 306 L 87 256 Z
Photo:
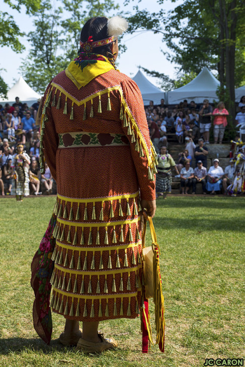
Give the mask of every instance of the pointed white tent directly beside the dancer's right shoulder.
M 165 99 L 165 92 L 155 87 L 141 70 L 132 79 L 138 85 L 145 105 L 148 105 L 149 101 L 153 101 L 154 105 L 159 105 L 161 99 Z

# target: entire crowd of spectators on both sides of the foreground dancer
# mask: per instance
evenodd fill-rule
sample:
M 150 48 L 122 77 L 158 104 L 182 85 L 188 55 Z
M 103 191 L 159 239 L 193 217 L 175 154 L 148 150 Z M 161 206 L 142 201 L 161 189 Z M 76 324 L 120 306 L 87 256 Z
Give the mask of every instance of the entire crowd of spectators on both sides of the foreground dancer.
M 40 126 L 35 124 L 35 119 L 40 100 L 30 108 L 26 103 L 21 103 L 19 97 L 15 100 L 12 106 L 8 103 L 5 106 L 0 105 L 0 193 L 14 194 L 13 156 L 17 152 L 18 144 L 24 146 L 24 151 L 30 158 L 30 164 L 26 168 L 28 177 L 25 180 L 25 195 L 55 193 L 49 167 L 45 175 L 41 175 L 39 169 Z M 238 110 L 235 120 L 240 138 L 245 141 L 245 96 L 241 98 Z M 224 103 L 219 102 L 217 107 L 213 108 L 207 99 L 200 105 L 195 101 L 188 104 L 187 100 L 184 100 L 178 105 L 167 106 L 164 99 L 161 99 L 161 103 L 157 106 L 150 101 L 149 105 L 145 106 L 145 112 L 150 138 L 158 154 L 162 146 L 168 147 L 169 137 L 175 137 L 178 143 L 186 144 L 185 150 L 179 154 L 176 162 L 176 170 L 180 172 L 181 192 L 188 193 L 192 188 L 195 194 L 196 185 L 199 183 L 202 184 L 204 194 L 220 191 L 221 188 L 225 192 L 230 181 L 231 168 L 229 174 L 223 172 L 219 160 L 216 160 L 213 162 L 212 170 L 206 169 L 207 144 L 210 143 L 209 133 L 212 123 L 214 144 L 221 144 L 223 140 L 227 125 L 226 117 L 229 115 Z M 196 160 L 195 170 L 192 168 L 194 160 Z

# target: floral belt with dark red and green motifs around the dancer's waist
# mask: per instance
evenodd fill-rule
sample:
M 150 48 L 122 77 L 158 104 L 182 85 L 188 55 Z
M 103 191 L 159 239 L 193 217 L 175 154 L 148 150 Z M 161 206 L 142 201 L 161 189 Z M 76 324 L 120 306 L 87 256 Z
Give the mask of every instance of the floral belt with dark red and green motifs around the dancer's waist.
M 58 134 L 58 148 L 75 147 L 101 147 L 101 146 L 127 146 L 129 141 L 125 135 L 86 133 L 78 131 L 72 133 Z

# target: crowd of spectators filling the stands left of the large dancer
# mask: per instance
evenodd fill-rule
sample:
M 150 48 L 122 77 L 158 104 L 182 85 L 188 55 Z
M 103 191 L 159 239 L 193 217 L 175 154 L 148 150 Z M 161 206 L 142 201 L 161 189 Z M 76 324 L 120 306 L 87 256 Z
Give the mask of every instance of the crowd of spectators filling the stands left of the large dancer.
M 15 164 L 18 144 L 22 144 L 30 164 L 25 162 L 25 196 L 55 193 L 49 167 L 40 174 L 40 126 L 35 124 L 40 100 L 29 108 L 18 97 L 10 106 L 0 105 L 0 194 L 15 195 Z M 5 136 L 5 138 L 4 138 Z

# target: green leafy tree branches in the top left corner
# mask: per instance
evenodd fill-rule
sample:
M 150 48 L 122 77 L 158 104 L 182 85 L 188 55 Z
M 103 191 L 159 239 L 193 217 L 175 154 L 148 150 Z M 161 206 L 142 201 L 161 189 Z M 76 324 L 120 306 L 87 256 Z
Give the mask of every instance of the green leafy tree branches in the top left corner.
M 21 12 L 21 6 L 25 6 L 26 14 L 35 13 L 40 4 L 40 0 L 18 0 L 12 2 L 3 0 L 11 9 Z M 15 52 L 21 52 L 25 47 L 19 41 L 19 37 L 24 35 L 19 26 L 15 23 L 14 17 L 6 12 L 0 11 L 0 46 L 11 46 Z

